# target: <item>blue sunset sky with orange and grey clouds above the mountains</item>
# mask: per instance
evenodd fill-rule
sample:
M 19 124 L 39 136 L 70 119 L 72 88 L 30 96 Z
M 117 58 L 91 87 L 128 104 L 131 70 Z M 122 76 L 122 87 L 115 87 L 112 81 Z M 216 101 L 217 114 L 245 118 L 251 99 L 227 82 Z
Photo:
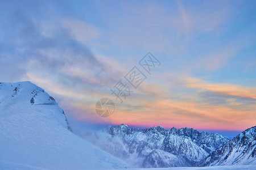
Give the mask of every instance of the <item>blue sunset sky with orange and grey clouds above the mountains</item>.
M 255 6 L 1 1 L 0 81 L 42 87 L 74 127 L 243 131 L 256 120 Z M 136 88 L 129 82 L 134 67 L 144 77 Z M 122 103 L 111 91 L 120 80 L 127 95 Z M 105 97 L 115 104 L 109 117 L 95 110 Z

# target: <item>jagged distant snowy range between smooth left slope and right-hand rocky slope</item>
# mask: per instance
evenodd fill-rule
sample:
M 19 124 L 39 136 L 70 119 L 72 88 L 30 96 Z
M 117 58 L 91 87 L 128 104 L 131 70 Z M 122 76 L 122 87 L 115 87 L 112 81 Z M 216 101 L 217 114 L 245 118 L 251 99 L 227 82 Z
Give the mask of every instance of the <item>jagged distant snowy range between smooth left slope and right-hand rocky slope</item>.
M 136 168 L 190 167 L 229 141 L 191 128 L 134 129 L 125 124 L 87 135 L 89 142 Z

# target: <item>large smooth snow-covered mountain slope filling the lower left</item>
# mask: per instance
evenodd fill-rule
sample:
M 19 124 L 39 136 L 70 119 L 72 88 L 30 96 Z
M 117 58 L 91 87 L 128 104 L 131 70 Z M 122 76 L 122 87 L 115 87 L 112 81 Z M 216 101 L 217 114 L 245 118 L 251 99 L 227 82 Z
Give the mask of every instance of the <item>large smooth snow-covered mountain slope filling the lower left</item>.
M 63 109 L 42 88 L 0 83 L 0 169 L 126 167 L 73 134 Z

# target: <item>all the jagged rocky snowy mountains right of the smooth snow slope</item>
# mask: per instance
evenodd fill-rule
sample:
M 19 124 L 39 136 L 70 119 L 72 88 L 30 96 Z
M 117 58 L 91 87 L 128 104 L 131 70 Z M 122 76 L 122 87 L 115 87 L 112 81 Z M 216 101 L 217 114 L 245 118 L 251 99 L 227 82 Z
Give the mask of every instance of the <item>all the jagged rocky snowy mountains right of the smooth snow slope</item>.
M 125 124 L 85 136 L 93 145 L 136 168 L 255 164 L 256 160 L 255 127 L 232 140 L 192 128 L 134 129 Z

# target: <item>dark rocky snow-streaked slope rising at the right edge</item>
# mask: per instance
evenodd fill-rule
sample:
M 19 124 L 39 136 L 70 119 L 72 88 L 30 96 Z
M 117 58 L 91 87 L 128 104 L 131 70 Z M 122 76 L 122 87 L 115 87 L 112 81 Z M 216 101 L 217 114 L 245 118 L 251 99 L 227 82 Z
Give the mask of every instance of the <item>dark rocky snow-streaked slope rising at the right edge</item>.
M 212 152 L 200 166 L 256 164 L 256 126 Z

